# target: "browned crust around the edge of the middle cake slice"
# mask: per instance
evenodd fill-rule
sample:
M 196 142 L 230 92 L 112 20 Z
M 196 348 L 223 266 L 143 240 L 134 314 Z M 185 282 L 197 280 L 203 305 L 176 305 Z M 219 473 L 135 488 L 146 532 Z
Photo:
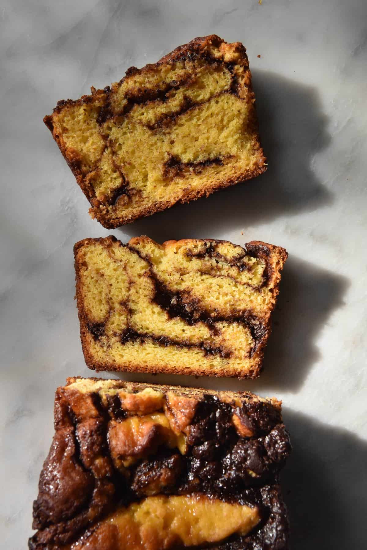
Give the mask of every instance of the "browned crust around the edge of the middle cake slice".
M 146 238 L 142 236 L 141 238 Z M 130 239 L 128 245 L 134 241 L 135 238 Z M 192 239 L 181 239 L 178 242 L 184 242 L 188 243 Z M 224 240 L 218 240 L 218 239 L 202 239 L 205 241 L 211 241 L 211 242 L 221 242 L 221 243 L 228 243 L 229 241 Z M 183 365 L 176 365 L 172 366 L 169 369 L 167 369 L 165 366 L 162 365 L 155 365 L 154 368 L 152 367 L 143 367 L 139 365 L 120 365 L 118 367 L 113 366 L 109 364 L 107 361 L 100 361 L 96 362 L 92 354 L 90 353 L 89 346 L 87 344 L 88 336 L 89 336 L 89 330 L 87 328 L 87 315 L 84 310 L 83 306 L 83 299 L 82 299 L 82 292 L 81 292 L 81 278 L 80 278 L 80 265 L 78 261 L 78 251 L 79 249 L 83 248 L 83 246 L 92 244 L 92 243 L 100 243 L 102 246 L 105 246 L 108 248 L 108 246 L 113 245 L 114 243 L 119 243 L 120 246 L 128 246 L 124 245 L 120 240 L 116 239 L 113 235 L 109 235 L 109 237 L 105 238 L 98 238 L 98 239 L 92 239 L 87 238 L 78 241 L 74 245 L 74 259 L 75 259 L 75 281 L 76 281 L 76 306 L 78 307 L 78 317 L 80 322 L 80 339 L 81 339 L 81 346 L 83 348 L 83 354 L 84 359 L 87 367 L 91 368 L 95 371 L 109 371 L 109 372 L 116 372 L 116 371 L 124 371 L 124 372 L 152 372 L 152 373 L 171 373 L 171 374 L 177 374 L 177 375 L 191 375 L 191 376 L 214 376 L 214 377 L 231 377 L 231 378 L 257 378 L 262 370 L 262 360 L 264 358 L 264 352 L 267 340 L 269 338 L 269 335 L 271 333 L 271 315 L 269 315 L 269 318 L 267 322 L 265 323 L 265 329 L 266 333 L 264 337 L 261 340 L 261 343 L 259 345 L 258 350 L 256 350 L 256 357 L 254 357 L 254 367 L 252 370 L 248 371 L 244 375 L 241 373 L 233 374 L 232 369 L 223 367 L 221 368 L 221 371 L 218 372 L 209 372 L 205 368 L 195 368 L 195 367 L 187 367 Z M 167 246 L 168 243 L 173 243 L 175 241 L 165 241 L 165 243 L 162 244 L 162 246 Z M 269 243 L 264 243 L 262 241 L 250 241 L 249 243 L 246 243 L 243 245 L 243 248 L 247 250 L 247 248 L 251 248 L 251 246 L 257 246 L 261 249 L 263 249 L 264 255 L 267 256 L 267 265 L 268 265 L 268 279 L 271 279 L 271 283 L 273 285 L 273 288 L 271 289 L 272 292 L 272 306 L 270 308 L 270 313 L 273 311 L 275 304 L 276 304 L 276 298 L 279 293 L 279 283 L 281 280 L 281 270 L 283 267 L 283 263 L 287 260 L 288 252 L 282 248 L 281 246 L 272 245 Z M 270 259 L 269 259 L 270 258 Z

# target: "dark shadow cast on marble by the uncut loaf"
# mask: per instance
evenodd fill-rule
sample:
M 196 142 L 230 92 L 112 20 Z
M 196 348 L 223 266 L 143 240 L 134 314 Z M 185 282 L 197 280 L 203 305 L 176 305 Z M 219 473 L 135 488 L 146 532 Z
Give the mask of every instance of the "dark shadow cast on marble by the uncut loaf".
M 291 547 L 363 550 L 367 539 L 367 442 L 287 408 L 283 418 L 293 445 L 282 472 Z

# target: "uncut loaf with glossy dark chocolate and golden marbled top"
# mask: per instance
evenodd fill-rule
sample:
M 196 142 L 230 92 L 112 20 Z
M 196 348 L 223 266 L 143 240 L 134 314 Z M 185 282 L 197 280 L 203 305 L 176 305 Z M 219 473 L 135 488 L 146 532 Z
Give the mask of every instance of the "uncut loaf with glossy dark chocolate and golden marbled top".
M 56 392 L 30 550 L 285 550 L 281 403 L 98 378 Z

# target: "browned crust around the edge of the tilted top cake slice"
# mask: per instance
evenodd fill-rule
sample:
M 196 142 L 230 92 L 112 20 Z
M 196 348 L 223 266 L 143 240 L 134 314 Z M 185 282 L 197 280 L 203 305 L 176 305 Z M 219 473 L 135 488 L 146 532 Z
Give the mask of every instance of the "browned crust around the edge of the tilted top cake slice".
M 171 53 L 168 53 L 166 56 L 163 56 L 156 63 L 147 64 L 145 65 L 145 67 L 141 69 L 136 69 L 136 67 L 130 67 L 127 70 L 124 78 L 120 80 L 120 83 L 122 83 L 125 79 L 129 78 L 130 76 L 136 74 L 136 72 L 144 74 L 148 70 L 151 70 L 152 68 L 158 67 L 159 65 L 165 64 L 167 62 L 180 61 L 184 59 L 194 60 L 199 56 L 205 56 L 205 52 L 208 48 L 210 48 L 212 45 L 218 47 L 222 43 L 226 44 L 226 42 L 224 42 L 224 40 L 217 35 L 209 35 L 209 36 L 194 38 L 194 40 L 191 40 L 187 44 L 178 46 L 177 48 L 175 48 L 175 50 L 173 50 Z M 235 46 L 235 49 L 242 56 L 242 61 L 244 65 L 247 66 L 248 78 L 246 82 L 246 87 L 249 92 L 249 97 L 252 98 L 254 101 L 254 92 L 251 85 L 251 73 L 248 68 L 248 57 L 246 54 L 246 48 L 240 42 L 235 42 L 231 46 Z M 94 87 L 92 87 L 91 91 L 92 91 L 91 95 L 84 95 L 78 100 L 68 99 L 68 100 L 58 101 L 57 106 L 53 109 L 53 112 L 60 112 L 65 106 L 68 106 L 68 105 L 83 105 L 83 103 L 90 103 L 96 96 L 102 97 L 106 103 L 108 99 L 109 86 L 107 86 L 104 90 L 96 90 Z M 43 122 L 46 124 L 47 128 L 51 131 L 53 139 L 56 141 L 63 157 L 65 158 L 65 161 L 67 162 L 68 166 L 70 167 L 70 169 L 72 170 L 75 176 L 76 182 L 80 186 L 87 200 L 90 202 L 91 204 L 91 208 L 89 209 L 90 216 L 92 218 L 97 219 L 97 221 L 100 222 L 102 226 L 107 229 L 114 229 L 122 225 L 132 223 L 135 221 L 135 219 L 151 216 L 157 212 L 162 212 L 167 208 L 171 208 L 175 204 L 184 204 L 196 199 L 200 199 L 200 197 L 202 196 L 208 197 L 209 195 L 211 195 L 212 193 L 215 193 L 216 191 L 219 191 L 221 189 L 226 189 L 229 186 L 237 185 L 240 182 L 245 182 L 249 179 L 255 178 L 258 175 L 264 173 L 267 169 L 266 157 L 264 156 L 264 151 L 262 150 L 261 143 L 260 143 L 259 125 L 256 117 L 256 107 L 255 107 L 255 103 L 253 103 L 253 111 L 251 113 L 251 124 L 253 125 L 254 131 L 256 134 L 256 145 L 258 146 L 258 155 L 259 155 L 258 166 L 256 166 L 253 170 L 243 171 L 236 178 L 227 179 L 227 180 L 218 182 L 216 185 L 212 185 L 210 188 L 191 190 L 189 193 L 186 193 L 184 196 L 180 197 L 177 200 L 156 202 L 155 204 L 152 204 L 149 207 L 142 208 L 138 213 L 135 213 L 135 215 L 129 215 L 129 216 L 127 215 L 125 217 L 118 216 L 114 218 L 112 216 L 106 216 L 105 212 L 103 212 L 103 203 L 95 199 L 93 190 L 91 189 L 91 186 L 86 182 L 85 175 L 81 171 L 78 165 L 78 162 L 74 162 L 74 163 L 70 162 L 70 160 L 67 158 L 66 147 L 64 146 L 60 136 L 58 136 L 54 131 L 52 114 L 45 116 L 43 118 Z

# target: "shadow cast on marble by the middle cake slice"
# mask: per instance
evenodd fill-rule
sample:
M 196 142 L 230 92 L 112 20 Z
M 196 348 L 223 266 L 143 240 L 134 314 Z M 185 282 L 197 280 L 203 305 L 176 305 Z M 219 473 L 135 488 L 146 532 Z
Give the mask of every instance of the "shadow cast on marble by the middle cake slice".
M 265 349 L 264 370 L 254 381 L 178 375 L 141 375 L 139 382 L 250 390 L 255 393 L 298 392 L 310 368 L 321 359 L 315 343 L 333 311 L 343 307 L 349 279 L 297 257 L 289 257 L 282 272 L 280 294 L 272 315 L 272 333 Z M 118 374 L 119 376 L 119 374 Z M 124 376 L 120 376 L 124 378 Z

